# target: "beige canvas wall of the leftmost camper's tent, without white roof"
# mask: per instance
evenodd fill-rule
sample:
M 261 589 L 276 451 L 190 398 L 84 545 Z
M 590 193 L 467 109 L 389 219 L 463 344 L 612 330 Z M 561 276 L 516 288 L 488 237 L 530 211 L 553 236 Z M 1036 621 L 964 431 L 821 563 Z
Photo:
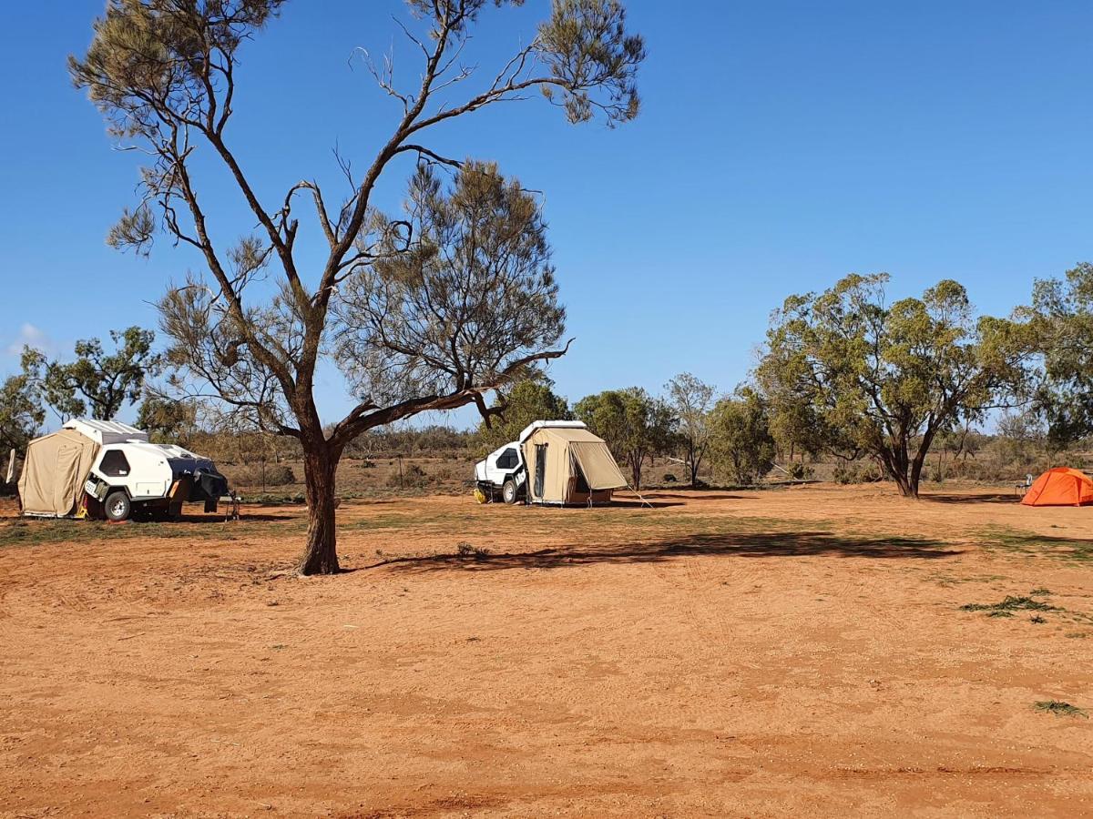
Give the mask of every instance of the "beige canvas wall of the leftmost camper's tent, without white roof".
M 23 514 L 73 514 L 97 452 L 98 443 L 74 429 L 61 429 L 31 441 L 19 478 Z

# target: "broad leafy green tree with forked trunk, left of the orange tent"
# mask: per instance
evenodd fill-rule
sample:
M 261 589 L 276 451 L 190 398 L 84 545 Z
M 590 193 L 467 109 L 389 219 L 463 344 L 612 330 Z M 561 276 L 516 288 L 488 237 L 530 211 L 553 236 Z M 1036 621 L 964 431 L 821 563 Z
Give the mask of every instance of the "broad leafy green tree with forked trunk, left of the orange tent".
M 982 419 L 1026 382 L 1026 327 L 973 317 L 945 280 L 888 304 L 886 274 L 849 275 L 821 294 L 790 296 L 772 317 L 759 381 L 795 395 L 827 447 L 868 453 L 918 497 L 933 439 Z

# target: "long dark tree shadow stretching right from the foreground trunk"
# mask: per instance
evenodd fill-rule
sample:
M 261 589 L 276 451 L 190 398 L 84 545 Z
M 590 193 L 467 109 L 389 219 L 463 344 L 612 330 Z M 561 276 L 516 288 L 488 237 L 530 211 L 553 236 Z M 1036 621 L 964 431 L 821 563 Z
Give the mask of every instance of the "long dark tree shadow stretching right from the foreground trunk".
M 650 543 L 560 546 L 534 551 L 428 555 L 383 560 L 401 572 L 566 569 L 597 563 L 660 563 L 686 557 L 858 557 L 936 560 L 962 554 L 950 544 L 921 537 L 851 537 L 830 532 L 696 534 Z

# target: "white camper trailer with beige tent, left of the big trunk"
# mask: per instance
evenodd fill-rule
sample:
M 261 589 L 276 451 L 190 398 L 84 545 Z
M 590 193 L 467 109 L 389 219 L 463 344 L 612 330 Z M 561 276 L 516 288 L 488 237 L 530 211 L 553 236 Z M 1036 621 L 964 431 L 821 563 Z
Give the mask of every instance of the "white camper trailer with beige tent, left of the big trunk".
M 216 511 L 227 479 L 208 458 L 151 443 L 126 424 L 77 418 L 31 441 L 19 479 L 23 514 L 87 514 L 124 521 L 133 514 L 171 517 L 185 501 Z

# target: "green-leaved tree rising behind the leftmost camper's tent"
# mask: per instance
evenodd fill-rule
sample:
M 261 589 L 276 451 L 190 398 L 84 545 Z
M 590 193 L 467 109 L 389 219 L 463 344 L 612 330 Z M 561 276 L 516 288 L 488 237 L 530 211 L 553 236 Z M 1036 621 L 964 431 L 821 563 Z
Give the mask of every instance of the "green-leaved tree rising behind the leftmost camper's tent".
M 48 360 L 40 351 L 23 349 L 24 375 L 62 422 L 89 415 L 113 420 L 126 405 L 137 403 L 144 379 L 160 372 L 163 357 L 152 349 L 151 330 L 111 330 L 110 340 L 113 353 L 98 339 L 78 341 L 72 361 Z

